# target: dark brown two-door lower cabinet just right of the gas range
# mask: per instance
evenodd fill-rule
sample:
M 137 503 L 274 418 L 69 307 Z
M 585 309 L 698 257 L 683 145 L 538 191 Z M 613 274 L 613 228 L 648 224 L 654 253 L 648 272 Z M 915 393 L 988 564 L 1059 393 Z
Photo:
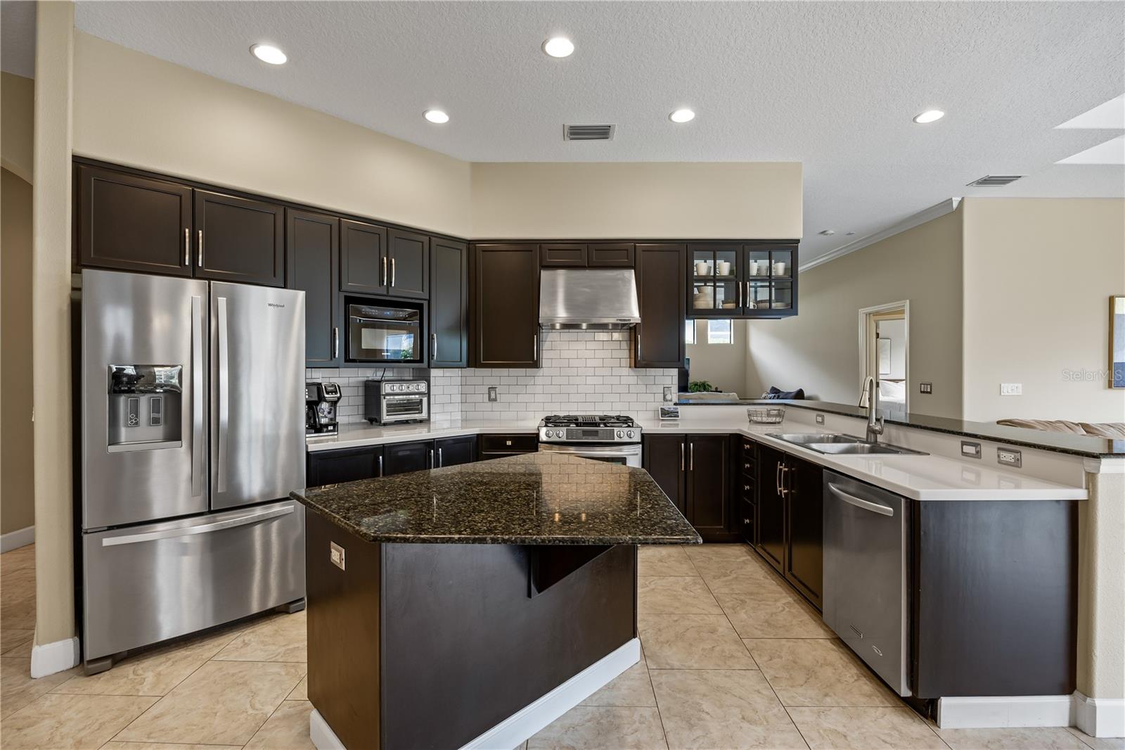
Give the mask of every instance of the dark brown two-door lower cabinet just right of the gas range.
M 741 534 L 730 502 L 730 440 L 726 435 L 646 435 L 642 465 L 704 542 Z

